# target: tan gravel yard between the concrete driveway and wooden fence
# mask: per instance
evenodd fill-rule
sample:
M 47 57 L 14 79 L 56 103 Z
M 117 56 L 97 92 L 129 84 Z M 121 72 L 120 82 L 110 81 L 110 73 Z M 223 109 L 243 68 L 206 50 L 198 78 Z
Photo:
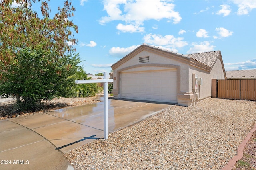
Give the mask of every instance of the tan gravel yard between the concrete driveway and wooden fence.
M 218 170 L 255 123 L 256 102 L 210 98 L 171 107 L 64 156 L 77 170 Z

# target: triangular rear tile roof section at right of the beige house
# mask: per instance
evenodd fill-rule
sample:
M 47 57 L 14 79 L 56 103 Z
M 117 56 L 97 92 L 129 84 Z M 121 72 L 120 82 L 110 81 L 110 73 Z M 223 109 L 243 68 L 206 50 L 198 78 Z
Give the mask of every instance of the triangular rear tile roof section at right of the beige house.
M 220 56 L 220 51 L 210 51 L 205 53 L 196 53 L 196 54 L 188 54 L 188 57 L 198 61 L 201 64 L 204 64 L 210 68 L 212 68 Z

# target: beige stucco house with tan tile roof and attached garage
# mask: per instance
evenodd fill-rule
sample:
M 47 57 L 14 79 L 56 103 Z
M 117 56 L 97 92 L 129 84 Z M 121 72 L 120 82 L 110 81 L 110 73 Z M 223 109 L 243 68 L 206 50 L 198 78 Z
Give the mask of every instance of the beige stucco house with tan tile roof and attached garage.
M 211 97 L 211 80 L 225 79 L 220 51 L 184 55 L 142 44 L 111 66 L 114 98 L 192 106 Z

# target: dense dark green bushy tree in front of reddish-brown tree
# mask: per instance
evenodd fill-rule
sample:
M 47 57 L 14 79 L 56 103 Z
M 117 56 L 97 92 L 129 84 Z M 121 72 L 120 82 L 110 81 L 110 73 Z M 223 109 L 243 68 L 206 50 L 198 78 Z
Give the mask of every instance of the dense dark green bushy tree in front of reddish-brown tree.
M 28 110 L 41 99 L 51 100 L 63 95 L 69 85 L 68 76 L 80 68 L 80 58 L 73 53 L 61 58 L 58 55 L 42 48 L 21 49 L 15 64 L 4 66 L 6 71 L 2 72 L 0 96 L 16 96 L 19 109 Z

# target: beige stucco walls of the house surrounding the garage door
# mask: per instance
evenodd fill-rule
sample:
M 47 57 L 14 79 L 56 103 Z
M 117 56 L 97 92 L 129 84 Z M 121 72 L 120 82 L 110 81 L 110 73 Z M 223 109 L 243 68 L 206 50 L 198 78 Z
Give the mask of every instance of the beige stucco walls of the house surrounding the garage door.
M 149 56 L 149 63 L 138 63 L 139 57 Z M 214 64 L 211 72 L 194 66 L 188 59 L 183 59 L 180 56 L 160 53 L 159 51 L 136 51 L 130 56 L 124 58 L 122 64 L 115 66 L 113 69 L 113 96 L 120 98 L 119 80 L 122 72 L 138 72 L 146 70 L 166 70 L 177 69 L 177 100 L 181 106 L 192 106 L 193 90 L 192 90 L 192 74 L 198 75 L 198 78 L 203 78 L 203 85 L 200 86 L 200 99 L 211 96 L 211 80 L 224 79 L 221 61 L 218 59 Z

